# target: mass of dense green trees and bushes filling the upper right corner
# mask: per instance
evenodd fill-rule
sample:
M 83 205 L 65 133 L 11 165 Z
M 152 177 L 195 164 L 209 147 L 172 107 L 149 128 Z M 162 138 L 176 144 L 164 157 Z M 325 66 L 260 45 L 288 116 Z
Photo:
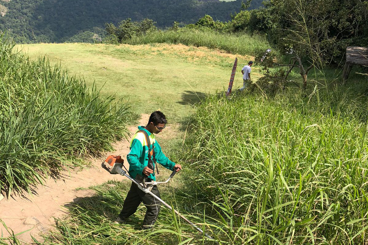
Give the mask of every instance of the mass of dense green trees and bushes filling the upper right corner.
M 269 0 L 263 4 L 234 15 L 231 29 L 265 33 L 280 50 L 293 50 L 296 65 L 299 59 L 308 67 L 340 64 L 347 46 L 368 46 L 367 0 Z

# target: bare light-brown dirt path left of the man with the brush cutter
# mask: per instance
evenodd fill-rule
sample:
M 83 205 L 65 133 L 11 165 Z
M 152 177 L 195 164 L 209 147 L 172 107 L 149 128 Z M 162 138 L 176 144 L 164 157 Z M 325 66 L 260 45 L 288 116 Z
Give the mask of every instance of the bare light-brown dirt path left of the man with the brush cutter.
M 139 125 L 148 122 L 149 115 L 143 114 Z M 130 132 L 137 131 L 137 127 L 130 127 Z M 129 142 L 124 140 L 114 144 L 115 152 L 106 152 L 99 159 L 89 159 L 91 167 L 82 171 L 64 171 L 62 178 L 55 181 L 50 178 L 45 185 L 36 189 L 36 195 L 25 197 L 12 196 L 10 199 L 0 201 L 0 219 L 7 227 L 11 228 L 15 234 L 27 231 L 18 236 L 25 244 L 32 241 L 31 236 L 40 238 L 40 232 L 46 232 L 54 224 L 53 217 L 63 217 L 66 214 L 64 205 L 72 202 L 76 198 L 93 196 L 93 190 L 75 190 L 77 188 L 87 188 L 92 185 L 101 184 L 108 180 L 122 180 L 121 176 L 111 175 L 101 168 L 102 161 L 108 155 L 121 155 L 126 162 L 126 155 L 129 152 Z M 0 224 L 0 230 L 4 237 L 9 234 Z M 0 235 L 1 236 L 1 235 Z

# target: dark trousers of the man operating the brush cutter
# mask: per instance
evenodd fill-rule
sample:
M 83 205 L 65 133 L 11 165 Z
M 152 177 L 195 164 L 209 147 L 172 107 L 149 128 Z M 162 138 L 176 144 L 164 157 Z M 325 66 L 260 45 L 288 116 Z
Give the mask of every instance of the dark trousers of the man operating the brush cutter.
M 157 185 L 153 186 L 151 192 L 161 198 Z M 143 227 L 151 228 L 159 215 L 161 203 L 153 198 L 153 196 L 141 191 L 133 182 L 124 200 L 123 210 L 121 210 L 119 217 L 124 220 L 134 214 L 141 202 L 147 207 L 146 215 L 143 220 Z

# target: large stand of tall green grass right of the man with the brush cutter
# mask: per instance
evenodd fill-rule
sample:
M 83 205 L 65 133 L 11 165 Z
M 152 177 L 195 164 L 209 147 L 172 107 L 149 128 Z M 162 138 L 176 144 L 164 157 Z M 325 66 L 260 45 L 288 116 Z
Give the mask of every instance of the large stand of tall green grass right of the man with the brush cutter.
M 312 97 L 212 96 L 198 106 L 186 168 L 191 193 L 213 207 L 206 222 L 213 237 L 223 244 L 368 242 L 367 86 L 363 94 L 354 87 Z

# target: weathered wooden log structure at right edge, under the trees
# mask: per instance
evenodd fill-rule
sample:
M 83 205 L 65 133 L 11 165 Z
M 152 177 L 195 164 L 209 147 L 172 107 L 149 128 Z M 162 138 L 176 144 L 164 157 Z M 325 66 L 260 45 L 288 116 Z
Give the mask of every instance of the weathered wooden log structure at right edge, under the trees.
M 366 65 L 368 66 L 368 48 L 366 47 L 347 47 L 346 48 L 346 62 L 343 70 L 343 83 L 349 77 L 352 65 Z

